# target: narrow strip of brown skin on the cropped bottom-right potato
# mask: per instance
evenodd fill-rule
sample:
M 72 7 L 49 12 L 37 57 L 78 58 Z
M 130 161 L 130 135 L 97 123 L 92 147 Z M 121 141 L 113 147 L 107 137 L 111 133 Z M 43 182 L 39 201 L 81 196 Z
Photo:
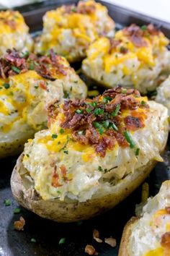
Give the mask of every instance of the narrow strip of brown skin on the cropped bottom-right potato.
M 122 233 L 122 239 L 120 242 L 120 249 L 119 249 L 118 256 L 130 256 L 127 251 L 127 244 L 129 242 L 130 235 L 132 234 L 133 226 L 137 221 L 138 221 L 137 217 L 132 217 L 130 218 L 130 221 L 128 221 L 128 223 L 125 225 L 125 228 L 123 229 L 123 233 Z

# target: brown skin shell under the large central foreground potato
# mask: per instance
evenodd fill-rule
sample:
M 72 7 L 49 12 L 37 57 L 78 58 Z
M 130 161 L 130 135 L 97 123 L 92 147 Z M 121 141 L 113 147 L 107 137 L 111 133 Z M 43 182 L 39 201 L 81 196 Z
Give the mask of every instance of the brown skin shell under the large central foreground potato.
M 22 176 L 27 172 L 22 165 L 22 158 L 23 154 L 20 155 L 12 172 L 11 186 L 14 198 L 24 208 L 31 210 L 42 218 L 64 223 L 86 220 L 113 208 L 146 179 L 156 164 L 156 161 L 150 161 L 146 166 L 136 170 L 134 174 L 126 176 L 121 182 L 113 186 L 112 194 L 93 197 L 86 202 L 76 200 L 62 202 L 58 199 L 42 200 L 37 195 L 31 182 L 25 179 L 24 175 Z

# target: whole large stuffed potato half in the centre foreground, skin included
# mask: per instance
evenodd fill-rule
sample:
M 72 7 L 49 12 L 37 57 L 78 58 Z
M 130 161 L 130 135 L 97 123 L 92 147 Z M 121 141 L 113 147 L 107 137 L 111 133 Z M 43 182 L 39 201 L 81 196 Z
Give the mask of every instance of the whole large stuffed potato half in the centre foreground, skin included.
M 48 108 L 49 129 L 24 147 L 12 192 L 44 218 L 71 222 L 115 206 L 163 161 L 167 109 L 137 90 L 107 90 L 94 100 Z

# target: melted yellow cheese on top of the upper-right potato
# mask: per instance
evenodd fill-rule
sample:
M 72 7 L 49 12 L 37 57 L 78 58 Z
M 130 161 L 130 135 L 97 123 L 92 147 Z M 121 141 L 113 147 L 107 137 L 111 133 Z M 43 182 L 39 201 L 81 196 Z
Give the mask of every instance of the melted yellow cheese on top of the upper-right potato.
M 166 46 L 169 44 L 169 40 L 161 32 L 158 35 L 143 36 L 142 40 L 146 45 L 135 46 L 135 43 L 123 33 L 123 30 L 119 30 L 115 33 L 117 45 L 112 47 L 112 42 L 110 43 L 108 38 L 99 38 L 91 44 L 87 51 L 87 56 L 89 61 L 102 57 L 106 73 L 109 73 L 113 66 L 122 64 L 123 73 L 128 75 L 133 72 L 132 67 L 127 67 L 129 59 L 140 61 L 140 67 L 145 64 L 153 67 L 155 65 L 156 52 L 165 51 Z

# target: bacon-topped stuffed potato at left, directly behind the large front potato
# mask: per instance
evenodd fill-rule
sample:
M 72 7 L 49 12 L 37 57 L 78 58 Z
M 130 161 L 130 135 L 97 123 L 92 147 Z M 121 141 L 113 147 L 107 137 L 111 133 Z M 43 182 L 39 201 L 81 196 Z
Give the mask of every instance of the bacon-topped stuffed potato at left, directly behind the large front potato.
M 47 127 L 45 107 L 64 98 L 86 98 L 86 85 L 68 61 L 8 51 L 0 59 L 0 158 L 16 155 L 35 132 Z

